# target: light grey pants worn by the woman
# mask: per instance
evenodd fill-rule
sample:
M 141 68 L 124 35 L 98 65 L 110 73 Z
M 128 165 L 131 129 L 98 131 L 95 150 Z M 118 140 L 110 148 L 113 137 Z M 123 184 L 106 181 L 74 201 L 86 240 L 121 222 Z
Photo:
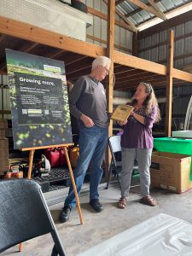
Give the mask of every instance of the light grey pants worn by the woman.
M 122 148 L 121 196 L 128 196 L 134 160 L 140 172 L 140 189 L 143 196 L 149 195 L 152 148 Z

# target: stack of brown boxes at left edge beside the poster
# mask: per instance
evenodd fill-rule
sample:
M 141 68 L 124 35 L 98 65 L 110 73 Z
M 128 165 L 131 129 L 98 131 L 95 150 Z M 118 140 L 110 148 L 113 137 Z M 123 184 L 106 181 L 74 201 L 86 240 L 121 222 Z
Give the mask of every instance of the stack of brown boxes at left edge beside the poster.
M 7 128 L 7 120 L 0 119 L 0 174 L 9 171 L 9 141 L 5 137 Z

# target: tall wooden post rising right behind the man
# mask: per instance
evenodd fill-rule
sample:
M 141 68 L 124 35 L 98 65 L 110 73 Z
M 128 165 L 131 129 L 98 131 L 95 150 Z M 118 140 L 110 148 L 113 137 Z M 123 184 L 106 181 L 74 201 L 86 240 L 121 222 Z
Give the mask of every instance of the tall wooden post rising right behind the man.
M 111 66 L 108 73 L 108 79 L 106 84 L 106 96 L 108 100 L 108 112 L 113 112 L 113 85 L 114 85 L 114 73 L 113 73 L 113 52 L 114 52 L 114 15 L 115 15 L 115 1 L 108 1 L 108 44 L 107 44 L 107 55 L 111 59 Z M 113 122 L 110 121 L 108 128 L 108 136 L 113 135 Z M 107 148 L 106 154 L 106 166 L 108 169 L 109 162 L 111 160 L 111 154 L 109 148 Z M 107 171 L 107 170 L 106 170 Z M 108 173 L 106 173 L 108 174 Z M 107 177 L 108 175 L 106 175 Z

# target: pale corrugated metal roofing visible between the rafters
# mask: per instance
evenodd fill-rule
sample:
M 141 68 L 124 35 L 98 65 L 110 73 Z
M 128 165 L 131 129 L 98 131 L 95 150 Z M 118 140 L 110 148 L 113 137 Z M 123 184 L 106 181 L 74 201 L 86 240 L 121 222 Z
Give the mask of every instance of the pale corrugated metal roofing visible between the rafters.
M 150 6 L 147 0 L 140 0 L 140 2 Z M 177 9 L 186 3 L 191 3 L 191 0 L 154 0 L 157 7 L 161 12 L 166 14 L 167 12 Z M 143 22 L 153 19 L 155 16 L 148 11 L 139 8 L 134 3 L 125 0 L 117 5 L 117 8 L 135 25 L 141 25 Z

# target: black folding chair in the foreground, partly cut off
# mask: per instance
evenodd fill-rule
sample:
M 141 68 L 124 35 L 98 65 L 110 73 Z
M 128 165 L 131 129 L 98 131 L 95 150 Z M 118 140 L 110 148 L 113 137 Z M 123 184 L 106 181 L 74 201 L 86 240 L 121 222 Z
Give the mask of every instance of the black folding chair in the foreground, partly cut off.
M 38 183 L 27 179 L 1 180 L 0 206 L 0 253 L 50 233 L 55 243 L 51 256 L 66 255 Z

